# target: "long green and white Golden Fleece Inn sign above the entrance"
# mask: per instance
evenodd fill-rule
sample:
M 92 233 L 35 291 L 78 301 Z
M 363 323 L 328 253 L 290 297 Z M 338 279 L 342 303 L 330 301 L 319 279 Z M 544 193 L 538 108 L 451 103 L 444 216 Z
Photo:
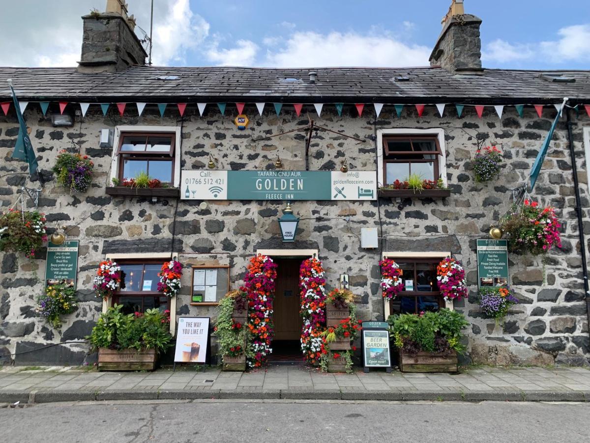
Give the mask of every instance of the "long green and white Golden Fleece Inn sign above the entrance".
M 182 200 L 376 200 L 376 171 L 182 171 Z

